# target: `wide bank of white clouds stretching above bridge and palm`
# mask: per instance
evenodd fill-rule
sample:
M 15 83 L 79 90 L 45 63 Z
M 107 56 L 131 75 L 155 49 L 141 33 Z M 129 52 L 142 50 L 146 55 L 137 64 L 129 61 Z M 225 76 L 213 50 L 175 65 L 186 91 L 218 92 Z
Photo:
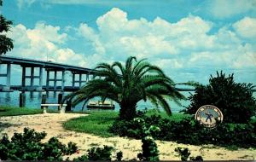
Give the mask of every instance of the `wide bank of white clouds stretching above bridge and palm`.
M 15 49 L 10 54 L 40 60 L 46 60 L 49 55 L 50 60 L 83 67 L 125 61 L 128 56 L 136 55 L 148 58 L 170 75 L 176 73 L 177 80 L 186 81 L 186 73 L 189 79 L 197 79 L 196 76 L 206 78 L 210 72 L 220 69 L 255 71 L 256 43 L 253 30 L 249 30 L 253 24 L 253 18 L 244 18 L 233 25 L 235 31 L 230 26 L 223 26 L 209 33 L 214 24 L 199 16 L 188 15 L 177 22 L 160 17 L 152 21 L 129 20 L 125 11 L 114 8 L 96 20 L 95 28 L 80 24 L 63 27 L 65 32 L 61 32 L 59 26 L 43 22 L 33 29 L 17 25 L 10 33 L 15 40 Z M 77 41 L 79 48 L 86 49 L 87 53 L 77 54 L 69 41 Z

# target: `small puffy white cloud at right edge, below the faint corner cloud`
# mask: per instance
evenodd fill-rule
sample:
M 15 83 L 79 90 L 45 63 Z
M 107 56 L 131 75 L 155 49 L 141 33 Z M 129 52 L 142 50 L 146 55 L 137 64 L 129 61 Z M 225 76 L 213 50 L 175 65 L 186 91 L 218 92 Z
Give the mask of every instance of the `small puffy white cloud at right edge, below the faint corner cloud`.
M 243 38 L 256 38 L 256 19 L 245 17 L 234 25 L 236 32 Z

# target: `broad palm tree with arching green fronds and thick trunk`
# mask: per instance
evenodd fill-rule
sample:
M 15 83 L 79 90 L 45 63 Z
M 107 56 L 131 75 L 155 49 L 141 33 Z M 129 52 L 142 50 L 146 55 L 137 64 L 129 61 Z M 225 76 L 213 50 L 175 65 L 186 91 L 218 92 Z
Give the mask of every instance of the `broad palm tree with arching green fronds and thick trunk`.
M 160 67 L 153 66 L 145 60 L 137 61 L 129 57 L 123 66 L 120 62 L 112 65 L 101 63 L 96 67 L 96 76 L 80 90 L 67 95 L 65 100 L 73 100 L 73 105 L 91 98 L 102 97 L 119 104 L 119 118 L 133 119 L 138 101 L 151 101 L 156 107 L 163 107 L 171 115 L 171 107 L 166 99 L 176 101 L 185 97 L 174 88 L 174 82 L 168 78 Z

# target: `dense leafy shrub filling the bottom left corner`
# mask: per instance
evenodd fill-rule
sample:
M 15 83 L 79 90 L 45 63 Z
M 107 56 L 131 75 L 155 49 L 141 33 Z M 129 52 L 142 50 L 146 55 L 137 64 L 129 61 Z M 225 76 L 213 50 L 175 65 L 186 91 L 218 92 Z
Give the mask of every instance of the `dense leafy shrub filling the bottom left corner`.
M 62 160 L 63 155 L 69 155 L 77 151 L 73 142 L 62 144 L 57 138 L 52 137 L 48 142 L 41 140 L 46 136 L 45 132 L 36 132 L 24 128 L 24 133 L 15 133 L 9 141 L 8 136 L 0 140 L 1 160 Z

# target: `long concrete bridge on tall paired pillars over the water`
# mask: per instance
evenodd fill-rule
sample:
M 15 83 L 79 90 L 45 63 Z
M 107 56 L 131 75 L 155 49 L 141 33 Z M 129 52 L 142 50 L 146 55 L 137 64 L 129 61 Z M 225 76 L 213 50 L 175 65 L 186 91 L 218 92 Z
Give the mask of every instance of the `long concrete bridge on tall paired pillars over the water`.
M 90 68 L 75 67 L 66 64 L 60 64 L 52 61 L 37 61 L 25 58 L 17 58 L 12 56 L 0 56 L 0 66 L 6 65 L 6 72 L 0 73 L 0 79 L 6 79 L 5 85 L 0 85 L 0 91 L 74 91 L 79 90 L 82 84 L 88 82 L 90 75 L 94 75 L 95 71 Z M 21 85 L 11 85 L 11 67 L 12 65 L 20 65 L 21 72 Z M 30 68 L 31 72 L 26 73 L 26 68 Z M 35 69 L 38 68 L 38 76 L 36 76 Z M 46 72 L 46 85 L 43 85 L 43 70 Z M 65 86 L 65 72 L 72 72 L 72 86 Z M 54 78 L 49 78 L 50 72 L 54 73 Z M 61 78 L 57 78 L 57 72 L 61 72 Z M 76 75 L 79 79 L 76 80 Z M 82 76 L 85 75 L 85 80 Z M 27 79 L 30 84 L 26 85 Z M 34 80 L 38 79 L 39 84 L 35 85 Z M 49 82 L 53 82 L 53 86 L 49 86 Z M 57 86 L 57 82 L 61 82 L 61 86 Z M 79 86 L 75 86 L 78 83 Z

